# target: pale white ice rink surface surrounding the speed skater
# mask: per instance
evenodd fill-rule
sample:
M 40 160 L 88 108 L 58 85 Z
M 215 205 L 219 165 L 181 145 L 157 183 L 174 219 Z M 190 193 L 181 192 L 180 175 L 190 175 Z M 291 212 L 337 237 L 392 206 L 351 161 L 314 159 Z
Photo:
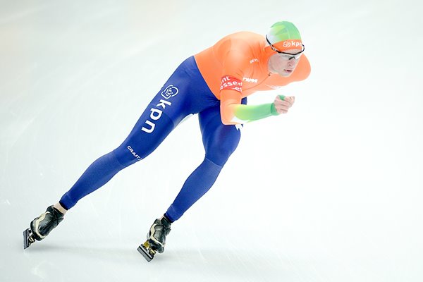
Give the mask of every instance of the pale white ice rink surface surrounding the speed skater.
M 0 281 L 423 281 L 423 4 L 0 0 Z M 22 232 L 116 148 L 178 64 L 224 35 L 298 26 L 312 73 L 245 125 L 214 187 L 137 252 L 204 157 L 197 116 Z

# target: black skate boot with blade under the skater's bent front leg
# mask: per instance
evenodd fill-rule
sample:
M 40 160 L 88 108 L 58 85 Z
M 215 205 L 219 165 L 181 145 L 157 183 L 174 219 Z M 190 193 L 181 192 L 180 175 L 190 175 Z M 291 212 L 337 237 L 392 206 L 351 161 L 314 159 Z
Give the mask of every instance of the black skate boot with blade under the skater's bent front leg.
M 156 252 L 164 252 L 166 245 L 166 236 L 171 232 L 171 221 L 166 216 L 156 219 L 147 234 L 147 241 L 138 247 L 138 252 L 150 262 Z

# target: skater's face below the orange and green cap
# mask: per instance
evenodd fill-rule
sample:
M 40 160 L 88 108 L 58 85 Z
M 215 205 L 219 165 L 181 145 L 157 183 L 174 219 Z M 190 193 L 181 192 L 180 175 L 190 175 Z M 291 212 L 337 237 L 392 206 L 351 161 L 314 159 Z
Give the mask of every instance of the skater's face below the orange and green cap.
M 289 49 L 283 53 L 276 53 L 269 58 L 269 72 L 277 73 L 283 77 L 290 76 L 297 67 L 302 49 Z M 295 56 L 294 56 L 295 55 Z

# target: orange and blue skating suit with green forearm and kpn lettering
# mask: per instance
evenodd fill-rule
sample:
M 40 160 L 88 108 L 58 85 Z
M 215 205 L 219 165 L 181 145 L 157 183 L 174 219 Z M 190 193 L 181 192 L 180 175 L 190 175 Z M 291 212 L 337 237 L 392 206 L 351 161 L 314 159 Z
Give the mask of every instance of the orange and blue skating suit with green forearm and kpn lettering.
M 71 209 L 118 171 L 147 157 L 183 118 L 198 114 L 205 156 L 168 207 L 168 219 L 178 220 L 214 184 L 238 146 L 240 123 L 275 114 L 271 103 L 247 105 L 247 96 L 278 89 L 309 75 L 310 66 L 305 55 L 300 57 L 290 77 L 269 74 L 267 63 L 275 52 L 266 47 L 265 42 L 262 35 L 238 32 L 183 61 L 154 96 L 123 143 L 94 161 L 61 197 L 63 207 Z

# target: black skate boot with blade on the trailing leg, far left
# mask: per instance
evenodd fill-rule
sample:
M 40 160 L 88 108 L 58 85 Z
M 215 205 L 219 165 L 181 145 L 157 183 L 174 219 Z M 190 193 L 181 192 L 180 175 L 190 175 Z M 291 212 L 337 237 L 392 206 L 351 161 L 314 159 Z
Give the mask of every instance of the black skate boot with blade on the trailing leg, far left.
M 64 214 L 59 212 L 59 209 L 53 206 L 47 207 L 46 212 L 31 221 L 30 228 L 23 231 L 23 248 L 26 249 L 35 240 L 44 239 L 53 228 L 63 221 L 63 216 Z

